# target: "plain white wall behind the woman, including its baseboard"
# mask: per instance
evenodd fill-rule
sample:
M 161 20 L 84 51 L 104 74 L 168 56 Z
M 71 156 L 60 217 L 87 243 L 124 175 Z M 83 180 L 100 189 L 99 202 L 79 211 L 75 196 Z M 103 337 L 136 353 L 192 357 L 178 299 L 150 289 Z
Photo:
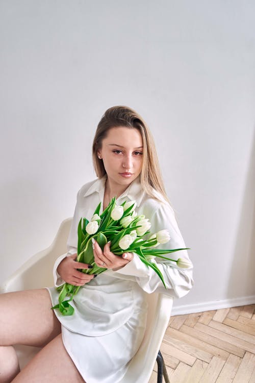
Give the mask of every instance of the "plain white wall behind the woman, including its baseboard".
M 254 292 L 254 2 L 0 2 L 1 270 L 47 247 L 95 177 L 104 111 L 148 122 L 194 262 L 175 313 Z M 253 234 L 253 236 L 252 236 Z

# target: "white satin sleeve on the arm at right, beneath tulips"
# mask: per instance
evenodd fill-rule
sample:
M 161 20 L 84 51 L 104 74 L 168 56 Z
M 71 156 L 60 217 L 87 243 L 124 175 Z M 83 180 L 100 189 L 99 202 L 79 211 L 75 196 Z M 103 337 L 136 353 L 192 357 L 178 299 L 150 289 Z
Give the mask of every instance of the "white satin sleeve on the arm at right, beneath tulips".
M 154 203 L 152 206 L 144 208 L 146 212 L 153 211 L 156 205 L 158 208 L 154 210 L 154 213 L 150 219 L 151 222 L 151 233 L 156 233 L 159 230 L 167 229 L 170 234 L 170 241 L 164 245 L 160 245 L 161 249 L 179 249 L 185 248 L 185 243 L 177 226 L 174 212 L 170 205 Z M 146 214 L 148 218 L 149 215 Z M 180 257 L 189 260 L 187 250 L 181 250 L 174 253 L 165 255 L 172 259 L 178 259 Z M 188 269 L 182 269 L 176 266 L 176 263 L 170 260 L 162 258 L 155 258 L 153 260 L 161 273 L 163 274 L 167 290 L 161 282 L 159 276 L 150 267 L 147 267 L 139 258 L 137 254 L 134 254 L 134 258 L 129 264 L 124 266 L 122 269 L 116 271 L 121 275 L 134 276 L 140 287 L 147 293 L 158 291 L 164 294 L 169 294 L 172 297 L 183 297 L 186 295 L 193 286 L 192 269 L 191 266 Z

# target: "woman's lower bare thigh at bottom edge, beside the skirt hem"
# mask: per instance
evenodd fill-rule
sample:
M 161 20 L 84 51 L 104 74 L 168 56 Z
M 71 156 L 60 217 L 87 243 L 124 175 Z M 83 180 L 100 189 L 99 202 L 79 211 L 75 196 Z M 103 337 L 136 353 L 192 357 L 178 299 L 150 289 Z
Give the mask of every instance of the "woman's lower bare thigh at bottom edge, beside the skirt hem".
M 49 342 L 16 376 L 13 383 L 85 383 L 62 341 L 61 334 Z

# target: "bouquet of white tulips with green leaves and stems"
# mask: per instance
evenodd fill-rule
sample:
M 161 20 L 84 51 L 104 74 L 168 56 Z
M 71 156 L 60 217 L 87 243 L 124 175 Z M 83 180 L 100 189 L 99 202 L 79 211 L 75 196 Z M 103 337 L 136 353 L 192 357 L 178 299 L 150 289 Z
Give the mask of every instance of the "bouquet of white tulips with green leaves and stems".
M 104 267 L 98 267 L 94 262 L 92 238 L 97 241 L 102 250 L 106 243 L 110 241 L 110 250 L 115 255 L 122 255 L 124 252 L 136 253 L 147 267 L 151 267 L 158 274 L 165 287 L 163 275 L 152 259 L 157 256 L 172 260 L 181 268 L 191 266 L 187 259 L 179 258 L 174 260 L 163 256 L 174 251 L 187 250 L 188 248 L 156 249 L 159 244 L 165 244 L 170 240 L 167 230 L 160 230 L 158 233 L 150 235 L 148 240 L 143 238 L 150 233 L 151 224 L 144 215 L 137 216 L 135 201 L 124 201 L 122 205 L 118 206 L 116 205 L 116 197 L 114 197 L 106 209 L 99 215 L 100 207 L 101 203 L 95 209 L 91 221 L 82 218 L 78 225 L 77 261 L 92 266 L 91 269 L 81 270 L 83 273 L 100 274 L 107 270 Z M 62 315 L 72 315 L 74 308 L 69 302 L 79 292 L 80 288 L 81 286 L 74 286 L 70 283 L 64 283 L 59 286 L 57 288 L 60 293 L 59 304 L 53 308 L 58 308 Z M 70 298 L 65 299 L 66 297 Z

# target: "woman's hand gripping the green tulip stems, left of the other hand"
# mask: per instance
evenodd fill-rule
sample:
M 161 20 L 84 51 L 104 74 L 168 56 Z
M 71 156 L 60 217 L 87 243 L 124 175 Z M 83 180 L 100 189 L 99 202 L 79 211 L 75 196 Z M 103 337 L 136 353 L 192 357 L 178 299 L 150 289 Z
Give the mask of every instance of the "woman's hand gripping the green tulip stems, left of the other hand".
M 90 265 L 82 264 L 82 262 L 77 262 L 75 259 L 77 258 L 77 254 L 69 255 L 65 257 L 59 264 L 57 268 L 57 272 L 61 276 L 61 278 L 74 286 L 83 286 L 85 283 L 88 283 L 92 278 L 94 278 L 94 274 L 84 274 L 77 269 L 90 269 Z

